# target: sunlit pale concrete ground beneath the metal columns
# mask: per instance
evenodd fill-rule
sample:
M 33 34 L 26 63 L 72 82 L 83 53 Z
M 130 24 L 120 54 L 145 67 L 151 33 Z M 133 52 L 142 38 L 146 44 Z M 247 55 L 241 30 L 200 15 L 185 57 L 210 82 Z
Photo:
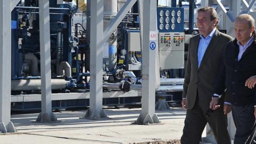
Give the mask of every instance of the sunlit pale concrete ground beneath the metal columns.
M 105 109 L 110 119 L 83 119 L 86 110 L 54 113 L 60 123 L 35 123 L 36 114 L 13 114 L 17 133 L 0 134 L 3 144 L 30 143 L 139 143 L 180 139 L 186 111 L 182 108 L 156 111 L 161 124 L 132 124 L 141 108 Z

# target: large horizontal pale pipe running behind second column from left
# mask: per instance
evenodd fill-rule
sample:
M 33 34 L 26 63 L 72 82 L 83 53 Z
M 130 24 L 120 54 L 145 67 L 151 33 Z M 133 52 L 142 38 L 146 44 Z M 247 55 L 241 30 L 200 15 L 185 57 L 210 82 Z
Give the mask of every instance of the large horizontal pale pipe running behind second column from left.
M 52 90 L 64 89 L 68 81 L 65 79 L 51 79 Z M 20 79 L 12 80 L 12 91 L 41 90 L 41 79 Z

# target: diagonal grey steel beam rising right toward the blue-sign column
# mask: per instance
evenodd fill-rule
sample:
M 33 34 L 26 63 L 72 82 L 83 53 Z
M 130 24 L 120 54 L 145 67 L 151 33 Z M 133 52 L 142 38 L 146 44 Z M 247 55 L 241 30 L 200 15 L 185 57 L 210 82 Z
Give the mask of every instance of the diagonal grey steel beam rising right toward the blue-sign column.
M 108 40 L 109 36 L 117 28 L 119 23 L 124 19 L 125 15 L 127 14 L 127 12 L 129 12 L 135 2 L 137 2 L 137 0 L 127 0 L 122 9 L 117 13 L 116 17 L 109 23 L 108 27 L 104 30 L 103 42 L 106 42 Z

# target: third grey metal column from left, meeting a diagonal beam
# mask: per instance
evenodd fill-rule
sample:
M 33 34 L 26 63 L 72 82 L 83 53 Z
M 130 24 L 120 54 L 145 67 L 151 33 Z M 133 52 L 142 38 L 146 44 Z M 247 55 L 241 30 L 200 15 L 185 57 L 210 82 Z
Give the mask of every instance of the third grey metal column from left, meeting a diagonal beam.
M 108 118 L 102 109 L 103 0 L 91 1 L 90 108 L 85 118 Z

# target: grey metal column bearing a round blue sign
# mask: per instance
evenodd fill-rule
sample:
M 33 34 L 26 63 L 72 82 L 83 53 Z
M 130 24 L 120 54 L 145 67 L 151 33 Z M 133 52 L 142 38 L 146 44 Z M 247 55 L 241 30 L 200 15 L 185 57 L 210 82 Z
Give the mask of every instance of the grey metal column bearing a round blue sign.
M 156 28 L 156 1 L 148 0 L 139 2 L 142 7 L 142 98 L 141 114 L 135 124 L 160 123 L 155 114 L 155 89 L 156 89 L 156 52 L 157 28 Z M 142 4 L 142 6 L 141 6 Z M 141 12 L 141 10 L 140 10 Z

